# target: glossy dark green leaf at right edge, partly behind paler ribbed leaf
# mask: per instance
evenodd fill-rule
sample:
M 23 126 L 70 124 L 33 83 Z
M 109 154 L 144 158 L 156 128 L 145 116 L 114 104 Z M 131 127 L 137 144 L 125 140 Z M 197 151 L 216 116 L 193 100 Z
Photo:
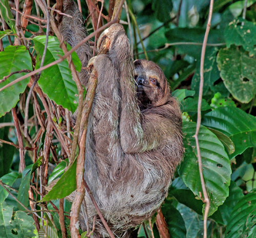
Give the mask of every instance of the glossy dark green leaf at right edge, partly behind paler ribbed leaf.
M 256 118 L 233 106 L 219 107 L 204 115 L 202 124 L 228 136 L 234 143 L 230 159 L 256 146 Z

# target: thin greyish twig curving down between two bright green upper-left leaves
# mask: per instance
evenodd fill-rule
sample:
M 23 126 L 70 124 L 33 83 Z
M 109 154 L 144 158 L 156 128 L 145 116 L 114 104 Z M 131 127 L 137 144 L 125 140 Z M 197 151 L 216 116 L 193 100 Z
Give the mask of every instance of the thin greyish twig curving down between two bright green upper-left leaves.
M 42 54 L 42 59 L 41 59 L 41 64 L 40 64 L 40 68 L 42 66 L 44 66 L 44 62 L 45 62 L 45 57 L 46 57 L 46 51 L 47 51 L 47 46 L 48 46 L 48 37 L 49 37 L 49 31 L 50 31 L 50 19 L 49 19 L 49 11 L 47 10 L 47 27 L 46 27 L 46 42 L 45 42 L 45 49 L 44 49 L 44 53 Z M 31 94 L 33 92 L 33 89 L 35 87 L 35 84 L 37 83 L 37 81 L 39 80 L 41 75 L 41 71 L 38 73 L 37 77 L 35 77 L 34 82 L 32 83 L 32 86 L 29 90 L 28 93 L 28 97 L 27 97 L 27 101 L 26 101 L 26 107 L 25 107 L 25 127 L 24 127 L 24 136 L 27 137 L 28 136 L 28 116 L 29 116 L 29 100 L 31 97 Z

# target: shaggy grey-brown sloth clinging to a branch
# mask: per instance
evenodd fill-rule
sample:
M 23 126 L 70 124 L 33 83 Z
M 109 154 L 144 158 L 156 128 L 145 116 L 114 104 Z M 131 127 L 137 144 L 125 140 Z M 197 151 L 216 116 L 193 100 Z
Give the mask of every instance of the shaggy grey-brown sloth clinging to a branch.
M 60 31 L 74 47 L 86 37 L 82 15 L 73 0 L 64 1 Z M 107 39 L 107 40 L 106 40 Z M 106 46 L 108 41 L 108 46 Z M 99 209 L 117 237 L 151 218 L 167 195 L 174 171 L 183 157 L 182 120 L 162 70 L 152 61 L 133 60 L 130 42 L 120 24 L 106 29 L 91 58 L 88 44 L 76 52 L 82 67 L 93 66 L 98 84 L 89 116 L 84 179 Z M 79 73 L 83 85 L 88 73 Z M 108 237 L 86 193 L 94 237 Z M 83 213 L 80 226 L 86 230 Z

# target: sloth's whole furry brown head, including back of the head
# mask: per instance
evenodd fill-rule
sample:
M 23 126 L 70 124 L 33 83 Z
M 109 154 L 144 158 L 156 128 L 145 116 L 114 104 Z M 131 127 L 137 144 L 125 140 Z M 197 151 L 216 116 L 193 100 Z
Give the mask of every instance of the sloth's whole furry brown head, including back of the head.
M 140 109 L 165 104 L 170 90 L 163 71 L 153 61 L 137 59 L 134 61 L 137 97 Z

